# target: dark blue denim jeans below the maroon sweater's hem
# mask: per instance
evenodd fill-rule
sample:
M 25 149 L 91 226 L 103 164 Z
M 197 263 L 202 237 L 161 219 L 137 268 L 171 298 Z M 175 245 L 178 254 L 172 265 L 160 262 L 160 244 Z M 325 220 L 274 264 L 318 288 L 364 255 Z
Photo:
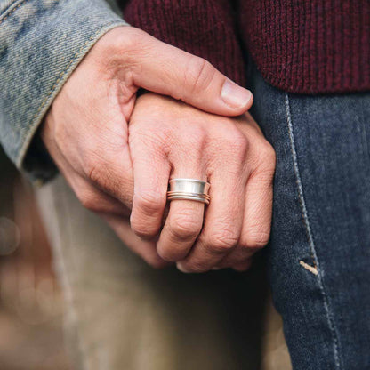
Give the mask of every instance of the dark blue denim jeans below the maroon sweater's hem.
M 285 93 L 249 75 L 277 152 L 266 252 L 294 369 L 370 369 L 370 94 Z

